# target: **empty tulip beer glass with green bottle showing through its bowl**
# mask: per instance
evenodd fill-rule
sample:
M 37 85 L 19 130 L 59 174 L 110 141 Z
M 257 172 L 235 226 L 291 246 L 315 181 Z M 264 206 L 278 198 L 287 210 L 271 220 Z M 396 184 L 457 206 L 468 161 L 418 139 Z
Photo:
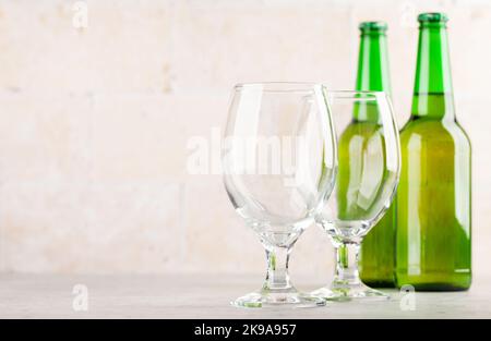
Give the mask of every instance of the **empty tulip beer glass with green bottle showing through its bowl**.
M 399 135 L 392 105 L 385 93 L 330 92 L 327 97 L 339 134 L 338 171 L 316 221 L 336 248 L 336 269 L 332 284 L 313 294 L 339 301 L 386 299 L 361 282 L 358 249 L 390 207 L 399 179 Z

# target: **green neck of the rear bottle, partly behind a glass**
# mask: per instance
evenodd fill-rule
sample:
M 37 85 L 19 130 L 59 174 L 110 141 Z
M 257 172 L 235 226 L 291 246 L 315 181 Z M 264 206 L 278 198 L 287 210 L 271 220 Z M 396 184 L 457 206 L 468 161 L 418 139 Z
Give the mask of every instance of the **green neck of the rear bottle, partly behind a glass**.
M 360 36 L 356 89 L 361 92 L 386 92 L 391 94 L 387 38 L 385 32 L 368 32 Z M 354 110 L 356 121 L 379 121 L 376 107 L 358 103 Z

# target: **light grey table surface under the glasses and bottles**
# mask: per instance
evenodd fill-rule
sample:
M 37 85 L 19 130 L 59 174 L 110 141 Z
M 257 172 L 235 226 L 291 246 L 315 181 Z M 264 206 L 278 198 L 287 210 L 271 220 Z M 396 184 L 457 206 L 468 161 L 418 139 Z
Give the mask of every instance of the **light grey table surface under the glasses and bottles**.
M 258 276 L 0 275 L 0 318 L 490 318 L 491 280 L 466 292 L 396 290 L 385 302 L 331 303 L 320 308 L 244 309 L 229 301 L 252 291 Z M 81 284 L 83 287 L 76 287 Z M 315 288 L 315 283 L 304 288 Z M 82 291 L 77 291 L 82 288 Z M 75 290 L 74 290 L 75 289 Z M 84 290 L 86 289 L 86 295 Z M 86 297 L 87 305 L 81 304 Z M 402 304 L 403 303 L 406 304 Z M 403 307 L 402 307 L 403 306 Z M 74 308 L 75 307 L 75 308 Z M 84 309 L 86 307 L 87 309 Z M 414 309 L 411 309 L 414 308 Z

